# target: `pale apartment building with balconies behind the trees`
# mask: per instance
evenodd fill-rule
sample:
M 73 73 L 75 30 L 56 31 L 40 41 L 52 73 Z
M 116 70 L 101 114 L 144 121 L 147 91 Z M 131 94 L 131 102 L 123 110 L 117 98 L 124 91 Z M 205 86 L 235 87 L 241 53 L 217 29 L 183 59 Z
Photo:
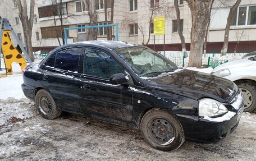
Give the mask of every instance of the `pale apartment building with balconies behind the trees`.
M 62 13 L 63 27 L 81 27 L 89 25 L 89 15 L 83 0 L 35 0 L 34 26 L 33 26 L 33 47 L 36 49 L 49 50 L 59 45 L 57 37 L 61 37 L 60 13 Z M 29 2 L 29 1 L 28 1 Z M 16 0 L 3 0 L 4 5 L 0 6 L 0 15 L 7 17 L 13 25 L 13 29 L 21 40 L 24 40 L 22 26 L 18 16 Z M 105 12 L 104 5 L 107 6 L 107 20 L 110 21 L 111 6 L 109 1 L 104 4 L 104 0 L 94 0 L 98 15 L 98 25 L 104 25 Z M 228 5 L 232 6 L 235 0 L 214 2 L 211 16 L 211 24 L 208 32 L 207 50 L 220 50 L 223 44 L 225 26 L 229 13 Z M 166 17 L 166 49 L 181 50 L 181 42 L 177 33 L 176 12 L 174 0 L 118 0 L 114 5 L 113 23 L 118 24 L 119 40 L 133 43 L 147 43 L 153 47 L 153 27 L 149 30 L 150 16 L 154 8 L 152 17 Z M 161 9 L 162 8 L 162 9 Z M 189 49 L 191 31 L 191 12 L 188 4 L 179 0 L 181 13 L 181 30 L 185 36 L 185 42 Z M 54 16 L 55 15 L 55 16 Z M 109 24 L 109 22 L 107 22 Z M 67 33 L 68 43 L 86 40 L 86 29 L 70 30 Z M 115 28 L 113 29 L 115 35 Z M 98 29 L 98 40 L 106 40 L 106 29 Z M 62 38 L 60 38 L 62 44 Z M 163 49 L 163 35 L 155 36 L 156 49 Z M 243 0 L 232 20 L 230 31 L 230 51 L 234 50 L 237 42 L 240 42 L 241 52 L 256 50 L 256 2 L 255 0 Z

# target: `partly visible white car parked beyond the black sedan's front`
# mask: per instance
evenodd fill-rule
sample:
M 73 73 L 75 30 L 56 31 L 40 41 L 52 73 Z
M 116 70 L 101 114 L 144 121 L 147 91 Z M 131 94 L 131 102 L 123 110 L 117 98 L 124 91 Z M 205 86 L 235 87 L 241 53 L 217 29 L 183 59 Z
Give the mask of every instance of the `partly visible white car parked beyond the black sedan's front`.
M 241 60 L 224 63 L 212 71 L 213 75 L 234 81 L 244 96 L 244 112 L 256 108 L 256 56 L 253 53 Z

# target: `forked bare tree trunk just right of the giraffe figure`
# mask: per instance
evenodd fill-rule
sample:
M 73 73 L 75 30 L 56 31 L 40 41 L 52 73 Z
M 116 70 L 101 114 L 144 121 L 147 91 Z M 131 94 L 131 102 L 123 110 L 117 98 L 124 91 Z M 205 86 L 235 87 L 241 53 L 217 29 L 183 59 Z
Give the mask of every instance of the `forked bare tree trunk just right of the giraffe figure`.
M 34 7 L 35 7 L 35 0 L 30 0 L 30 6 L 26 0 L 17 0 L 17 6 L 19 9 L 19 17 L 22 24 L 24 37 L 25 37 L 25 44 L 26 44 L 26 51 L 29 54 L 29 57 L 32 62 L 34 62 L 34 55 L 33 55 L 33 47 L 32 47 L 32 29 L 34 24 Z M 29 8 L 29 15 L 28 15 L 28 8 Z

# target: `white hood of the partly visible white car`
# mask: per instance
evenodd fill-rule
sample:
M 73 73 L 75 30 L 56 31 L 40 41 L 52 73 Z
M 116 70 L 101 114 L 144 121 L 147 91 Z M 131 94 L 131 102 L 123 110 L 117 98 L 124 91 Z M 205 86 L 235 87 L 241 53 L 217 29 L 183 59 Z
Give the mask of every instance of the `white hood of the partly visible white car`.
M 220 66 L 217 66 L 216 68 L 214 68 L 213 72 L 217 72 L 219 70 L 223 70 L 223 69 L 228 69 L 228 68 L 237 68 L 237 67 L 247 67 L 250 65 L 255 65 L 256 62 L 255 61 L 250 61 L 248 58 L 246 59 L 241 59 L 238 61 L 232 61 L 232 62 L 228 62 L 228 63 L 223 63 Z

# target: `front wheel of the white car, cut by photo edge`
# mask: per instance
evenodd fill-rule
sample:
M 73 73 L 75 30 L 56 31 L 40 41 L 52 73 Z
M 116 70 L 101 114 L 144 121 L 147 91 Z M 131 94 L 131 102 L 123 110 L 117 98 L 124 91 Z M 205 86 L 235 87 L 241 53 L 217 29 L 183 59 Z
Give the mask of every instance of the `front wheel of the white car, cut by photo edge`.
M 252 81 L 238 81 L 236 85 L 242 91 L 245 99 L 244 112 L 253 112 L 256 108 L 256 84 Z

